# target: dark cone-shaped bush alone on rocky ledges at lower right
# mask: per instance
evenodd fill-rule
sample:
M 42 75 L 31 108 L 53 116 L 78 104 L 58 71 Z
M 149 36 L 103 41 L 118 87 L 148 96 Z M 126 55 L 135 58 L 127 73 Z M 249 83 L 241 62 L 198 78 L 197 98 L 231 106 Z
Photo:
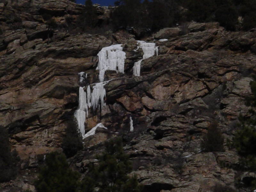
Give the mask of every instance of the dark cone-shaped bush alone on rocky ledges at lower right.
M 206 152 L 224 151 L 223 136 L 218 128 L 218 123 L 214 121 L 209 127 L 208 132 L 203 137 L 201 147 Z

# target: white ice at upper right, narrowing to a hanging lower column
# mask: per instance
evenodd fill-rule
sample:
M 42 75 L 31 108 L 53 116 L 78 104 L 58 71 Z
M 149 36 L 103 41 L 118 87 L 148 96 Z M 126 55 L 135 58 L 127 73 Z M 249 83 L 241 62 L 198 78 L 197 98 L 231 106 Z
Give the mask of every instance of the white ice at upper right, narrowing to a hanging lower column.
M 147 43 L 145 41 L 137 41 L 138 47 L 140 47 L 143 51 L 143 59 L 134 63 L 133 66 L 133 75 L 140 76 L 140 64 L 144 59 L 148 59 L 149 57 L 158 55 L 158 47 L 156 47 L 155 43 Z

